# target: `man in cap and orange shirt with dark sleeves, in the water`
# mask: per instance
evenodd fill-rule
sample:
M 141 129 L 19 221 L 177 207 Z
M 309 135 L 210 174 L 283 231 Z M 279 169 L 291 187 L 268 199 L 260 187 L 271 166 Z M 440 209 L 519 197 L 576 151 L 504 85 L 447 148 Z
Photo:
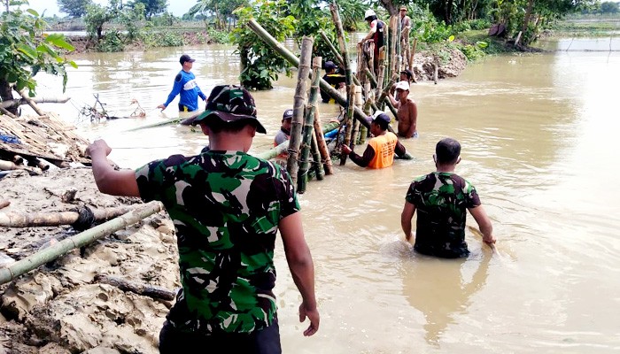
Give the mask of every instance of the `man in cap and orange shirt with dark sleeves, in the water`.
M 387 114 L 377 111 L 369 119 L 371 119 L 370 133 L 375 137 L 368 141 L 364 155 L 356 154 L 346 145 L 342 145 L 342 152 L 348 155 L 356 165 L 362 167 L 390 167 L 394 163 L 394 154 L 404 157 L 407 150 L 394 133 L 387 131 L 390 125 L 390 117 Z

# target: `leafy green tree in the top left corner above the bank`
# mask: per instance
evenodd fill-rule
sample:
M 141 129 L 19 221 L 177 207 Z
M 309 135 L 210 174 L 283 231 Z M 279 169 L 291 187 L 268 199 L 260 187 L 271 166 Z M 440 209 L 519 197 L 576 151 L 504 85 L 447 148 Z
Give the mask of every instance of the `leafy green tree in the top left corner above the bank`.
M 7 4 L 8 8 L 8 4 Z M 35 96 L 35 75 L 41 71 L 63 78 L 63 92 L 68 80 L 65 66 L 77 67 L 58 54 L 58 50 L 74 50 L 63 35 L 44 35 L 47 23 L 37 12 L 28 9 L 7 11 L 0 16 L 0 97 L 13 98 L 12 89 L 28 90 Z M 13 114 L 17 108 L 10 109 Z

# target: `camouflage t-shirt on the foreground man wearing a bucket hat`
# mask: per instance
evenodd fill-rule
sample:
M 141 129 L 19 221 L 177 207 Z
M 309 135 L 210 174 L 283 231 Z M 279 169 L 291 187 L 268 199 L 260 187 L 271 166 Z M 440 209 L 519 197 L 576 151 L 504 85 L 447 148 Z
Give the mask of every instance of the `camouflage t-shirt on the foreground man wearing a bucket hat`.
M 182 331 L 249 333 L 275 318 L 275 235 L 299 210 L 289 174 L 240 151 L 174 155 L 136 170 L 144 201 L 174 221 L 182 290 L 167 319 Z

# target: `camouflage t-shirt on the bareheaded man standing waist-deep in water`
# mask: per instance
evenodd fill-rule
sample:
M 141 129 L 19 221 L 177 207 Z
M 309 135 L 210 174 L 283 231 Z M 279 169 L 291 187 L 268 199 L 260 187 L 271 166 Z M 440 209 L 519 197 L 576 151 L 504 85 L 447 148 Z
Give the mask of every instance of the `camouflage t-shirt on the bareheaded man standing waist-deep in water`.
M 429 173 L 409 186 L 407 202 L 415 205 L 414 249 L 442 258 L 467 257 L 467 209 L 480 205 L 476 188 L 454 173 Z

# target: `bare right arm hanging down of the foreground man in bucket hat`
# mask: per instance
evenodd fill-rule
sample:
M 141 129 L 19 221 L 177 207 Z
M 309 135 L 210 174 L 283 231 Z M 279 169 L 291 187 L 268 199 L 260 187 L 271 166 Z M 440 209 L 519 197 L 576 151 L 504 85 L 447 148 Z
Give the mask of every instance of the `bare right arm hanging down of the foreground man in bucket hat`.
M 310 326 L 306 328 L 304 335 L 314 335 L 319 330 L 320 316 L 314 296 L 314 263 L 304 237 L 301 213 L 295 212 L 281 219 L 278 228 L 282 235 L 286 261 L 302 298 L 299 322 L 303 322 L 306 317 L 310 319 Z

